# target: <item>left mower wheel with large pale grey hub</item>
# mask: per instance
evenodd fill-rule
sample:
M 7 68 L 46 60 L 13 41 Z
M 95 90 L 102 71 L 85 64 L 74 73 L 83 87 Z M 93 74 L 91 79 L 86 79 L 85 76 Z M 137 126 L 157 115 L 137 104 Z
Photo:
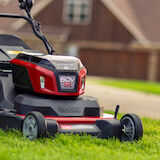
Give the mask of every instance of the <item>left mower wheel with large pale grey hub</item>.
M 23 136 L 30 140 L 46 136 L 46 124 L 40 112 L 30 112 L 23 121 Z

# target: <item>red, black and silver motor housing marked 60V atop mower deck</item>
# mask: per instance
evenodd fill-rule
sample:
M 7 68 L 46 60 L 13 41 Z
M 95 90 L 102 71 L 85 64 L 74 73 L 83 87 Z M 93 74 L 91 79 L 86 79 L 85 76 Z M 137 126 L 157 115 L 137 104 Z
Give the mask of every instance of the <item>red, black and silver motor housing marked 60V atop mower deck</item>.
M 10 63 L 19 90 L 58 96 L 84 93 L 87 70 L 76 57 L 21 53 Z

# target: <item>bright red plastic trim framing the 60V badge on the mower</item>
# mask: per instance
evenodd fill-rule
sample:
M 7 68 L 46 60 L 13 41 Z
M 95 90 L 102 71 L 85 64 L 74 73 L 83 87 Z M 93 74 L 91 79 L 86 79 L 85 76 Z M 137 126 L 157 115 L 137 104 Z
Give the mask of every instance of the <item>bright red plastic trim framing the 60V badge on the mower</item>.
M 86 68 L 82 68 L 79 71 L 77 92 L 59 92 L 58 84 L 53 71 L 19 59 L 12 59 L 11 63 L 23 66 L 27 69 L 33 90 L 36 93 L 58 96 L 79 96 L 84 93 L 84 89 L 82 89 L 82 79 L 86 78 Z M 45 88 L 41 88 L 40 86 L 40 76 L 45 78 Z

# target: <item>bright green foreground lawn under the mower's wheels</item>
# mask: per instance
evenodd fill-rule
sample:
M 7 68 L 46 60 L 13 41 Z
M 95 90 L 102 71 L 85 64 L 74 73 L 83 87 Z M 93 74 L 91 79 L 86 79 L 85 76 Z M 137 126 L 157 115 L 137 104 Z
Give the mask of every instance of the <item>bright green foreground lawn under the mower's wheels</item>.
M 111 112 L 112 113 L 112 112 Z M 120 114 L 121 116 L 122 114 Z M 119 116 L 119 117 L 120 117 Z M 90 136 L 57 135 L 24 140 L 20 132 L 0 130 L 1 160 L 157 160 L 160 159 L 160 120 L 142 118 L 144 137 L 138 142 L 102 140 Z

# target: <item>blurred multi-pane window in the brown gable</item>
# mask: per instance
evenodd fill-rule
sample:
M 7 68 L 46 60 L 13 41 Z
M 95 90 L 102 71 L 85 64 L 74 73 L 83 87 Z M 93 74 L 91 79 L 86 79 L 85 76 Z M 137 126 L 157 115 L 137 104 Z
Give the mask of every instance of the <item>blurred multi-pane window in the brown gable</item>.
M 64 0 L 63 22 L 67 24 L 89 24 L 92 0 Z

